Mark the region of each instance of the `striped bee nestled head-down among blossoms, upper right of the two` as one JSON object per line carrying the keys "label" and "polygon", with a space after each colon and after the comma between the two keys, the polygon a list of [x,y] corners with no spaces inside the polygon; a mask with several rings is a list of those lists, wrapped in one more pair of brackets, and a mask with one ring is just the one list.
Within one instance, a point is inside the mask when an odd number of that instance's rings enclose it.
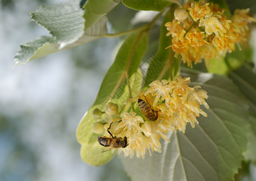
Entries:
{"label": "striped bee nestled head-down among blossoms, upper right of the two", "polygon": [[158,117],[158,112],[151,109],[150,105],[141,99],[138,99],[138,107],[140,112],[149,120],[155,121]]}

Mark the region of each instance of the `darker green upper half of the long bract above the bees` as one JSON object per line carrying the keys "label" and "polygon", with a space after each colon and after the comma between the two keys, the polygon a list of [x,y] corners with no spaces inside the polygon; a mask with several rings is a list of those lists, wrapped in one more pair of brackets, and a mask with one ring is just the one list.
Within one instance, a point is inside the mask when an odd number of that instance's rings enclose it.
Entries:
{"label": "darker green upper half of the long bract above the bees", "polygon": [[[107,71],[101,83],[94,105],[106,103],[115,94],[124,80],[135,73],[147,47],[147,34],[135,33],[127,37],[118,51],[115,62]],[[121,87],[123,88],[123,87]]]}

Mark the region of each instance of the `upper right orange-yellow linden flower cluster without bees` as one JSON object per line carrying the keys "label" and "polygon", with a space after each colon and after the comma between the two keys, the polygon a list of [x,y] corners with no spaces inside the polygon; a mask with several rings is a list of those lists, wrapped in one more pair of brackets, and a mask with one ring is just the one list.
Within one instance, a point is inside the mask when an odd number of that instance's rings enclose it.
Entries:
{"label": "upper right orange-yellow linden flower cluster without bees", "polygon": [[[181,60],[192,67],[192,62],[200,63],[204,59],[206,66],[210,60],[225,56],[235,49],[235,43],[246,41],[249,22],[256,19],[248,16],[246,10],[235,10],[234,16],[227,19],[224,10],[217,4],[204,1],[185,4],[174,12],[175,19],[165,26],[172,35],[172,47],[175,57],[181,55]],[[238,44],[239,47],[239,44]]]}

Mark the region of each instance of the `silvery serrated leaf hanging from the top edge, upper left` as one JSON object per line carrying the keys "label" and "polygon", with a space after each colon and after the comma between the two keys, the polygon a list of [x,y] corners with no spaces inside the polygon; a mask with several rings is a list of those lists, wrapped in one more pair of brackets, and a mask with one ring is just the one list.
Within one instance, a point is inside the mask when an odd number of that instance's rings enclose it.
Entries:
{"label": "silvery serrated leaf hanging from the top edge, upper left", "polygon": [[33,11],[31,19],[50,31],[59,43],[59,49],[76,42],[84,34],[84,11],[79,1],[41,5]]}

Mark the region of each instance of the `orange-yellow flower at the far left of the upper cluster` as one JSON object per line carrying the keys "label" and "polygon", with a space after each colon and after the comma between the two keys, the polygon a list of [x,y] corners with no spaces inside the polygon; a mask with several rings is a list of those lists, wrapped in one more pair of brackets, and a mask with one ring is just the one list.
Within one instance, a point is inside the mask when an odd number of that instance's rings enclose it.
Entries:
{"label": "orange-yellow flower at the far left of the upper cluster", "polygon": [[184,34],[186,33],[186,31],[184,30],[184,28],[180,25],[180,22],[178,22],[177,19],[173,19],[172,22],[167,22],[165,24],[166,29],[169,31],[166,36],[170,36],[170,34],[172,34],[172,37],[174,39],[179,39],[182,40],[184,37]]}

